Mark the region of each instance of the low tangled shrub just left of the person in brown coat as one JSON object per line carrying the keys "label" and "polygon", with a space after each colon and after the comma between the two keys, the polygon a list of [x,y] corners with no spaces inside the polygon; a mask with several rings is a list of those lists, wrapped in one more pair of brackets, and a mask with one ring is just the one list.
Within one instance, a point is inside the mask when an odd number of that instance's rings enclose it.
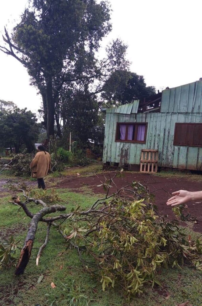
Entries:
{"label": "low tangled shrub just left of the person in brown coat", "polygon": [[19,153],[16,154],[12,159],[11,172],[16,176],[30,176],[31,169],[30,163],[32,161],[31,154]]}

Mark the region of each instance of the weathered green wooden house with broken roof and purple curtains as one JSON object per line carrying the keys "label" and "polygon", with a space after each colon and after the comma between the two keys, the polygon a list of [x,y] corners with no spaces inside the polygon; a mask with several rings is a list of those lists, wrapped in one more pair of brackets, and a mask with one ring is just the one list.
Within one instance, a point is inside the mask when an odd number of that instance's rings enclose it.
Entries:
{"label": "weathered green wooden house with broken roof and purple curtains", "polygon": [[140,170],[147,149],[158,150],[158,167],[202,170],[201,80],[103,111],[104,165]]}

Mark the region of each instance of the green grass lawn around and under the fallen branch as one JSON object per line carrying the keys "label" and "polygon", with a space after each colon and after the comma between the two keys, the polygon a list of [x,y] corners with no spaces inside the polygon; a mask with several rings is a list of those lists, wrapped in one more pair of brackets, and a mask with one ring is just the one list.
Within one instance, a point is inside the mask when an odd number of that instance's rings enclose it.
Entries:
{"label": "green grass lawn around and under the fallen branch", "polygon": [[[75,172],[72,174],[76,175],[77,172],[82,172],[82,175],[90,175],[91,172],[101,171],[100,166],[82,169],[82,171],[74,169]],[[67,189],[57,189],[57,192],[61,197],[60,204],[66,206],[67,211],[71,211],[71,208],[77,205],[86,209],[99,198],[99,195],[94,195],[88,189],[85,189],[83,193],[75,193]],[[13,233],[16,239],[21,239],[20,246],[22,246],[30,218],[26,217],[22,209],[9,203],[11,192],[7,192],[7,194],[8,196],[2,197],[0,200],[0,239]],[[41,208],[34,203],[28,204],[28,207],[33,213]],[[185,233],[190,234],[193,238],[201,237],[191,228],[186,228]],[[24,275],[14,276],[14,267],[0,270],[0,306],[49,306],[52,301],[57,301],[62,295],[63,297],[58,304],[53,304],[53,306],[67,306],[69,305],[67,301],[69,297],[64,292],[63,284],[71,288],[72,294],[75,287],[80,285],[80,290],[89,301],[89,306],[175,306],[187,300],[193,306],[202,305],[202,273],[189,267],[183,267],[182,270],[162,270],[158,279],[162,282],[163,288],[157,287],[155,290],[152,290],[151,287],[145,288],[145,293],[141,297],[131,300],[130,303],[127,303],[118,288],[103,292],[101,283],[94,281],[89,274],[82,272],[77,252],[72,249],[66,250],[63,238],[54,228],[50,230],[49,242],[43,250],[37,267],[37,248],[44,243],[45,237],[46,224],[39,222],[34,243],[35,249],[32,250],[31,260]],[[17,250],[17,258],[19,253],[20,250]],[[40,275],[43,275],[43,279],[38,284],[37,280]],[[72,281],[75,281],[73,285]],[[56,288],[52,289],[51,282],[54,282]],[[168,294],[169,298],[165,299]],[[85,299],[75,305],[86,305]]]}

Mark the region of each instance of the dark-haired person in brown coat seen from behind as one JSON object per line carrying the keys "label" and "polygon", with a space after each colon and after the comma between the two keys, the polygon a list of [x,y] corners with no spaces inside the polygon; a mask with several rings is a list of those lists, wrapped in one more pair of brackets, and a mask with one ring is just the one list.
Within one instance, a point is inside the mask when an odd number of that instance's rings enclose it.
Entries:
{"label": "dark-haired person in brown coat seen from behind", "polygon": [[42,144],[39,145],[37,150],[38,152],[30,164],[32,170],[31,177],[37,178],[38,188],[45,189],[46,186],[43,178],[51,171],[51,158]]}

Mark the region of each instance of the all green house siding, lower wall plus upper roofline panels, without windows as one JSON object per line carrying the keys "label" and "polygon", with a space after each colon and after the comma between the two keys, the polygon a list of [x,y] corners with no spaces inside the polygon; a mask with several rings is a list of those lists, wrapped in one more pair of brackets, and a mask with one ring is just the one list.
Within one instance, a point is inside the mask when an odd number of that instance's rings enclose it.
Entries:
{"label": "all green house siding, lower wall plus upper roofline panels, without windows", "polygon": [[[202,81],[164,90],[159,113],[138,113],[138,106],[106,111],[103,162],[139,165],[141,149],[157,149],[161,167],[202,170],[202,147],[173,145],[175,123],[202,123]],[[117,122],[148,122],[146,144],[115,142]]]}

